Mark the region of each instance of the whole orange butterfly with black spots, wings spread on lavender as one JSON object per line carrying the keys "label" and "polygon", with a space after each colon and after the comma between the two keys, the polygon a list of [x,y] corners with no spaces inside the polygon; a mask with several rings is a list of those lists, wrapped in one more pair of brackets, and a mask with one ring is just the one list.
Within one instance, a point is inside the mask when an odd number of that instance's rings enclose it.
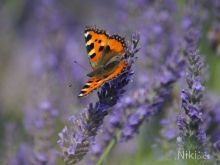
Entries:
{"label": "whole orange butterfly with black spots, wings spread on lavender", "polygon": [[93,71],[87,74],[90,79],[81,89],[78,98],[87,96],[126,69],[126,61],[122,59],[127,48],[125,38],[118,34],[109,35],[106,30],[96,26],[86,26],[85,42]]}

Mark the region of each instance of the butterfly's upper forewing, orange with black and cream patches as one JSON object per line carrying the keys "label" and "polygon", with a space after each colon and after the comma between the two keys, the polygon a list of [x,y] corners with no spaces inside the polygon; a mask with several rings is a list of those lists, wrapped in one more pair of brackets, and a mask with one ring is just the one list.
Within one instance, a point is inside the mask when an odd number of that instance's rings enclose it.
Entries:
{"label": "butterfly's upper forewing, orange with black and cream patches", "polygon": [[103,50],[107,45],[109,34],[106,30],[97,29],[95,26],[85,28],[85,42],[90,64],[93,69],[98,68]]}

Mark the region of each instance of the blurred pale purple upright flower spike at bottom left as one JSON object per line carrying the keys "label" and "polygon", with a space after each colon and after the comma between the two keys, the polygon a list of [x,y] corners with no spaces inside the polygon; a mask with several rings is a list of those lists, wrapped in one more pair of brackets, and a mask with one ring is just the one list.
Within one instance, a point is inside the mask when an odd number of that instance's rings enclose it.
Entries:
{"label": "blurred pale purple upright flower spike at bottom left", "polygon": [[[30,110],[30,109],[29,109]],[[34,138],[33,164],[47,163],[53,164],[56,160],[55,150],[51,148],[51,136],[53,135],[53,125],[55,117],[57,117],[58,112],[51,105],[48,100],[42,101],[38,109],[31,111],[31,116],[27,116],[26,124],[30,124],[29,129],[30,134]],[[33,161],[33,160],[29,160]]]}

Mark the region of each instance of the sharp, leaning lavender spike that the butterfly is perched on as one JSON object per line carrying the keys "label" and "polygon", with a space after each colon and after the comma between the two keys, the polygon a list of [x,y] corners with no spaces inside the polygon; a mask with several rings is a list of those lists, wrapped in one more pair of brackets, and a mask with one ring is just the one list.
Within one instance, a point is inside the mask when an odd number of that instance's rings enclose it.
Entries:
{"label": "sharp, leaning lavender spike that the butterfly is perched on", "polygon": [[[65,127],[59,133],[60,140],[58,144],[61,151],[58,155],[66,164],[75,164],[83,159],[90,146],[95,143],[97,132],[102,128],[103,120],[108,115],[108,108],[114,106],[125,92],[123,88],[131,81],[131,76],[134,74],[130,68],[137,59],[134,57],[134,54],[140,50],[137,47],[139,39],[139,33],[134,32],[132,35],[132,45],[127,43],[127,51],[123,57],[123,60],[127,63],[125,72],[112,81],[106,82],[101,87],[101,91],[98,92],[99,100],[95,106],[90,103],[80,113],[79,119],[77,119],[77,113],[75,113],[69,119],[73,123],[72,128],[68,130]],[[65,143],[68,147],[64,147]]]}

